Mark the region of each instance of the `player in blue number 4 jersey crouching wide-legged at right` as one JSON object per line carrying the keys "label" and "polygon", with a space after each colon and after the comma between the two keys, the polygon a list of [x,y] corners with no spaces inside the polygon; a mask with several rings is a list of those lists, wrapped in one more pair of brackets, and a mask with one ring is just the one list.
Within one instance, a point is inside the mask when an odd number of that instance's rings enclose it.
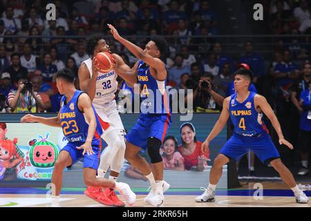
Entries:
{"label": "player in blue number 4 jersey crouching wide-legged at right", "polygon": [[220,133],[229,117],[234,124],[234,133],[214,160],[209,175],[209,186],[195,200],[196,202],[213,202],[215,200],[216,184],[223,173],[223,166],[229,160],[239,160],[245,153],[251,150],[254,151],[261,162],[266,165],[270,163],[274,167],[282,180],[294,192],[296,202],[308,203],[308,197],[299,189],[292,173],[281,162],[279,152],[267,133],[265,124],[261,120],[263,113],[272,122],[279,136],[279,144],[284,144],[290,149],[293,149],[293,146],[283,137],[279,121],[265,97],[249,91],[251,82],[252,72],[250,70],[241,68],[234,73],[234,89],[236,93],[225,98],[223,111],[211,133],[209,133],[207,139],[202,144],[203,150],[209,147],[209,143]]}

